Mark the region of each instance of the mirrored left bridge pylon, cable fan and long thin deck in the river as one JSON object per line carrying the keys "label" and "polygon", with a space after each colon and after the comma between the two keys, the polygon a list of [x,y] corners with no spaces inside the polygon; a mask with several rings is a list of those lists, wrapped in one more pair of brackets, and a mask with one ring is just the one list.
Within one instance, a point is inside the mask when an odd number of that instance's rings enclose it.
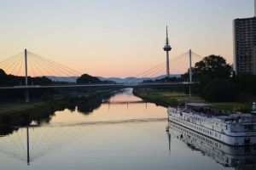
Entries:
{"label": "mirrored left bridge pylon, cable fan and long thin deck in the river", "polygon": [[24,161],[30,165],[32,161],[57,150],[64,144],[79,139],[86,133],[95,133],[94,126],[127,123],[163,122],[166,118],[137,118],[100,122],[55,123],[49,126],[25,126],[14,133],[0,137],[0,153]]}

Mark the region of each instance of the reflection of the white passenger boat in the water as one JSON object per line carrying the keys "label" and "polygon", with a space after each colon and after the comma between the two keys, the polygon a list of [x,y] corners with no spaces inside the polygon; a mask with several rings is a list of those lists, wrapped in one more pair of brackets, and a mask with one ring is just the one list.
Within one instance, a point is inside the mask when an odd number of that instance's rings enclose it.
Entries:
{"label": "reflection of the white passenger boat in the water", "polygon": [[224,167],[256,168],[255,146],[235,147],[223,144],[173,122],[169,122],[169,127],[172,138],[183,141],[191,150],[201,151],[203,156],[211,157]]}

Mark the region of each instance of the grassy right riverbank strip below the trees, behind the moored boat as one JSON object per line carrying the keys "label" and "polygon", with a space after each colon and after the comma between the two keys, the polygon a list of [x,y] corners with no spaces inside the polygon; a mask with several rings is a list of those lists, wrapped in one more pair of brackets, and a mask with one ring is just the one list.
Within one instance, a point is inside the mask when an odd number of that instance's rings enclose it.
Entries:
{"label": "grassy right riverbank strip below the trees, behind the moored boat", "polygon": [[[151,89],[151,88],[135,88],[133,90],[133,94],[137,95],[142,99],[146,99],[148,101],[152,101],[157,105],[163,106],[177,106],[177,105],[184,105],[185,102],[203,102],[209,103],[200,97],[193,96],[189,98],[188,94],[184,94],[182,92],[174,92],[169,91],[166,89]],[[251,98],[244,98],[244,102],[224,102],[224,103],[209,103],[214,105],[218,110],[225,110],[225,111],[242,111],[242,112],[249,112],[252,107],[253,99]]]}

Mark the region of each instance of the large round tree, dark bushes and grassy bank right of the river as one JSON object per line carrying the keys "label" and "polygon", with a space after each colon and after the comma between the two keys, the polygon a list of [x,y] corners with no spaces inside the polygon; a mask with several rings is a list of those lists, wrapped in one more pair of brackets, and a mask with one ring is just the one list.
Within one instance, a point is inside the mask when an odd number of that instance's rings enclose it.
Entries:
{"label": "large round tree, dark bushes and grassy bank right of the river", "polygon": [[[143,99],[150,99],[161,105],[183,105],[184,102],[205,102],[220,110],[251,111],[256,100],[256,76],[252,74],[236,75],[231,65],[217,55],[210,55],[192,68],[193,79],[198,82],[191,86],[193,95],[189,98],[188,87],[172,89],[135,89]],[[177,82],[178,78],[164,78],[158,81]],[[179,81],[189,80],[189,71]],[[183,89],[183,90],[181,90]],[[174,93],[174,92],[178,92]]]}

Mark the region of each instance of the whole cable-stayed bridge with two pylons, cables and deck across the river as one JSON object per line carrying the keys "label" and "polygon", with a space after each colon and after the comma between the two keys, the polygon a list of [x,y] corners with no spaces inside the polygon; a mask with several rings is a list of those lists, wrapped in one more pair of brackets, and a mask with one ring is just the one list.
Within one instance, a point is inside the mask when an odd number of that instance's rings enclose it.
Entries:
{"label": "whole cable-stayed bridge with two pylons, cables and deck across the river", "polygon": [[[0,62],[0,69],[6,72],[6,74],[14,75],[16,77],[25,77],[25,80],[16,84],[15,86],[0,86],[0,90],[4,89],[28,89],[32,88],[135,88],[135,87],[161,87],[172,86],[182,84],[193,84],[193,77],[191,67],[196,62],[201,60],[202,57],[199,54],[195,54],[189,50],[183,54],[178,55],[175,58],[170,59],[168,65],[166,62],[160,65],[155,65],[145,71],[138,73],[135,78],[143,77],[160,77],[165,75],[166,67],[170,68],[172,75],[181,75],[189,71],[189,80],[187,82],[144,82],[134,83],[132,78],[123,83],[101,83],[101,84],[78,84],[73,82],[73,79],[80,77],[81,72],[75,71],[66,65],[61,65],[51,59],[44,56],[32,53],[25,49],[24,52],[15,54],[9,59],[5,59]],[[168,76],[170,76],[168,72]],[[50,84],[35,84],[30,79],[31,77],[48,77],[53,82]],[[61,80],[60,80],[61,77]],[[67,83],[60,83],[67,82]]]}

